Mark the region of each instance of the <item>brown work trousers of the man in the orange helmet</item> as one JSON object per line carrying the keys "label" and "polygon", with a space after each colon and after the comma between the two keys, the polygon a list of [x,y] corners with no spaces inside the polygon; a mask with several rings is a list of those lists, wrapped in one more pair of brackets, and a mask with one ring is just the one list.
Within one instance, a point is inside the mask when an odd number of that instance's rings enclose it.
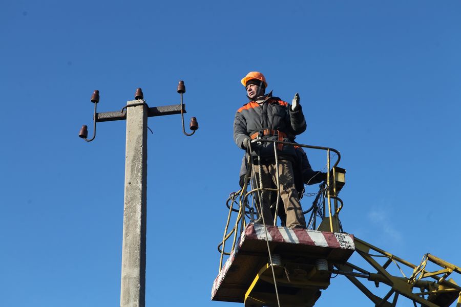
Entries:
{"label": "brown work trousers of the man in the orange helmet", "polygon": [[[279,188],[280,198],[282,199],[283,206],[286,213],[286,226],[287,227],[306,227],[306,220],[304,219],[303,209],[298,199],[298,191],[295,188],[295,177],[293,172],[293,166],[291,161],[279,160]],[[277,171],[275,162],[261,163],[261,165],[253,165],[255,171],[256,186],[260,187],[262,181],[262,188],[275,188],[277,187]],[[259,178],[259,172],[261,171],[261,181]],[[274,225],[274,217],[270,212],[270,194],[274,193],[271,191],[260,191],[261,195],[261,206],[264,217],[264,223],[266,225]],[[277,196],[275,198],[277,200]],[[273,202],[275,206],[276,203]],[[279,207],[282,204],[279,203]],[[260,209],[260,202],[256,205],[258,212]],[[260,223],[263,221],[260,220]]]}

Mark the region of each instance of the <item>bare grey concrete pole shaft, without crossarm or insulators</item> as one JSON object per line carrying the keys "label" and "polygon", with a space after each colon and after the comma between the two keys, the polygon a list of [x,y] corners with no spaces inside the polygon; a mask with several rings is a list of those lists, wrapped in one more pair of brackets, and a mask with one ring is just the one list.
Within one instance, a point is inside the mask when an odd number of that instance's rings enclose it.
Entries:
{"label": "bare grey concrete pole shaft, without crossarm or insulators", "polygon": [[120,306],[145,305],[147,107],[127,103]]}

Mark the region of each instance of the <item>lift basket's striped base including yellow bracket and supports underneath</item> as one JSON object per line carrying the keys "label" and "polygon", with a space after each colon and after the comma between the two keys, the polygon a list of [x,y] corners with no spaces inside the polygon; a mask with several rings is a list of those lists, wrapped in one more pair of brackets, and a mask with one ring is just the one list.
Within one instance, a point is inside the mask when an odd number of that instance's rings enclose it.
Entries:
{"label": "lift basket's striped base including yellow bracket and supports underneath", "polygon": [[[263,306],[277,301],[275,279],[284,306],[313,306],[330,284],[328,263],[345,264],[354,252],[350,234],[250,223],[213,283],[212,299]],[[268,243],[273,266],[268,259]]]}

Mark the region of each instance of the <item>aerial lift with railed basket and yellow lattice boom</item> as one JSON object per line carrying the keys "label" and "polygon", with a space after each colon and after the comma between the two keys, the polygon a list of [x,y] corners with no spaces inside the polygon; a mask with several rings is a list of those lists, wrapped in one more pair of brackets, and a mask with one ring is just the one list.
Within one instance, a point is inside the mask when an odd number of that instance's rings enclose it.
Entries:
{"label": "aerial lift with railed basket and yellow lattice boom", "polygon": [[[244,187],[231,193],[226,202],[229,214],[223,240],[218,245],[221,258],[219,274],[213,282],[212,300],[244,303],[247,307],[310,307],[320,298],[321,291],[328,288],[332,274],[340,274],[362,291],[374,306],[395,307],[400,297],[406,297],[414,306],[449,307],[457,300],[456,307],[461,307],[461,287],[449,278],[452,273],[461,274],[460,267],[431,254],[424,255],[420,265],[413,265],[343,231],[339,219],[343,201],[338,193],[345,185],[346,170],[338,167],[339,151],[275,141],[276,161],[276,143],[326,150],[327,180],[320,185],[312,206],[303,212],[311,212],[307,229],[275,226],[276,220],[273,225],[255,223],[258,211],[255,195],[261,190],[280,193],[277,189],[256,184],[248,192]],[[331,168],[330,152],[337,156]],[[249,170],[248,177],[252,176],[250,173]],[[279,212],[278,202],[275,207],[275,212]],[[237,218],[231,227],[233,212],[237,212]],[[249,219],[248,224],[245,217]],[[225,244],[232,237],[231,250],[226,252]],[[348,262],[354,252],[365,259],[372,270]],[[223,265],[225,255],[228,258]],[[392,264],[403,276],[391,272]],[[405,275],[402,268],[411,273]],[[390,289],[385,295],[375,294],[359,278],[371,281],[372,288],[384,285]]]}

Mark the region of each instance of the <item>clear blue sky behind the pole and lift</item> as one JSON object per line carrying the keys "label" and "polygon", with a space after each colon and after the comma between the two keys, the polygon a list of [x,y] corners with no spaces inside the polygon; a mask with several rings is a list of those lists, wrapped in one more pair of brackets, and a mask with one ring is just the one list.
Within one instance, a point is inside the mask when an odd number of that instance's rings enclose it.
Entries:
{"label": "clear blue sky behind the pole and lift", "polygon": [[[210,293],[238,189],[240,79],[255,70],[274,95],[300,93],[300,143],[341,151],[345,231],[413,263],[430,252],[461,265],[460,2],[1,7],[0,305],[119,304],[125,123],[98,124],[91,143],[78,130],[93,90],[100,112],[137,87],[150,106],[177,104],[180,79],[200,129],[186,138],[179,115],[149,119],[146,305],[236,305]],[[339,276],[316,306],[338,304],[371,302]]]}

